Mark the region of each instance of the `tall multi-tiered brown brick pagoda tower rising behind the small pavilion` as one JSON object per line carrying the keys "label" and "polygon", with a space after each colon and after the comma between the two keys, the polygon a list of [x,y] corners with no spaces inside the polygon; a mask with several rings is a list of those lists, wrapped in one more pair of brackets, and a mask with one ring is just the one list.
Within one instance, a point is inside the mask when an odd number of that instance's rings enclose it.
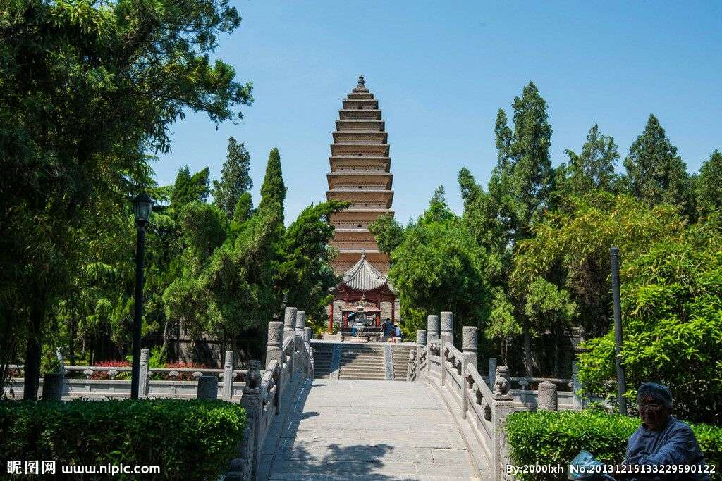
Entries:
{"label": "tall multi-tiered brown brick pagoda tower rising behind the small pavilion", "polygon": [[331,144],[326,198],[348,200],[351,205],[330,219],[335,228],[331,245],[339,250],[333,260],[334,273],[347,272],[362,252],[374,268],[386,273],[388,255],[378,250],[368,225],[378,216],[393,216],[388,133],[378,100],[366,88],[363,76],[342,102]]}

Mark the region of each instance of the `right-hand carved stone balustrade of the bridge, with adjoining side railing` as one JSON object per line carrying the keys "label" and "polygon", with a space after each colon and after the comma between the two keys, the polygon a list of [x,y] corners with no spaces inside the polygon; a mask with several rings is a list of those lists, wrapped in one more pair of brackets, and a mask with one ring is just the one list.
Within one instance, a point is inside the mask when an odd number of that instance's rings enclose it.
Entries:
{"label": "right-hand carved stone balustrade of the bridge, with adjoining side railing", "polygon": [[[576,394],[580,388],[576,366],[573,379],[511,377],[508,366],[497,366],[496,358],[491,358],[482,376],[477,365],[478,336],[477,327],[464,326],[459,350],[453,340],[453,314],[429,315],[427,330],[417,332],[407,379],[438,390],[469,442],[480,475],[491,467],[493,479],[503,480],[510,463],[504,431],[508,415],[521,410],[579,409],[583,401]],[[513,389],[516,386],[521,389]],[[482,477],[489,475],[487,471]]]}

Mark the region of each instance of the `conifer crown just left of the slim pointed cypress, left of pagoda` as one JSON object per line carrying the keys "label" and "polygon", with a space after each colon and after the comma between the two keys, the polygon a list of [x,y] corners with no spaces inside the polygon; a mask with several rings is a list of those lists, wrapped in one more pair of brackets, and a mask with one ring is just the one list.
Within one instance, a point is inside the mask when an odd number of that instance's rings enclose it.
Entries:
{"label": "conifer crown just left of the slim pointed cypress, left of pagoda", "polygon": [[245,150],[245,145],[238,144],[235,138],[228,138],[228,154],[221,169],[221,179],[213,181],[214,201],[228,219],[233,219],[240,196],[253,187],[253,180],[248,175],[250,168],[251,155]]}

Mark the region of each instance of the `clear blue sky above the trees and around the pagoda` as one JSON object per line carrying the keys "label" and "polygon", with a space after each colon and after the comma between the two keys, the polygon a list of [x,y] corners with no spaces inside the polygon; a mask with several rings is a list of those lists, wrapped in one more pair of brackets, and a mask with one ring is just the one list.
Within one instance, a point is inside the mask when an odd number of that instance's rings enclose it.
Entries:
{"label": "clear blue sky above the trees and around the pagoda", "polygon": [[[357,76],[379,99],[391,144],[393,208],[405,222],[456,176],[486,185],[496,112],[534,81],[549,106],[552,162],[578,151],[593,123],[622,159],[650,113],[690,172],[722,149],[722,2],[236,1],[243,22],[217,56],[255,102],[239,125],[192,112],[154,165],[161,185],[188,164],[219,177],[227,138],[251,153],[253,200],[278,146],[286,221],[325,200],[331,131]],[[621,161],[619,165],[621,169]]]}

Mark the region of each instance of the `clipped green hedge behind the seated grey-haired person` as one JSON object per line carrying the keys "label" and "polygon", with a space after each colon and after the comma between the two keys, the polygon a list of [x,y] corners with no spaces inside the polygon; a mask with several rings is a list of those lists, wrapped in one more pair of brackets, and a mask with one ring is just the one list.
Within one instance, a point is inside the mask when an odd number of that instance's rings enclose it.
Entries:
{"label": "clipped green hedge behind the seated grey-haired person", "polygon": [[[580,450],[596,459],[617,464],[625,459],[627,439],[639,427],[638,418],[601,410],[515,412],[507,418],[506,432],[514,465],[562,464],[567,466]],[[722,428],[692,425],[705,459],[722,461]],[[719,479],[719,475],[716,475]],[[558,475],[557,475],[558,477]],[[521,479],[545,479],[541,475]]]}

